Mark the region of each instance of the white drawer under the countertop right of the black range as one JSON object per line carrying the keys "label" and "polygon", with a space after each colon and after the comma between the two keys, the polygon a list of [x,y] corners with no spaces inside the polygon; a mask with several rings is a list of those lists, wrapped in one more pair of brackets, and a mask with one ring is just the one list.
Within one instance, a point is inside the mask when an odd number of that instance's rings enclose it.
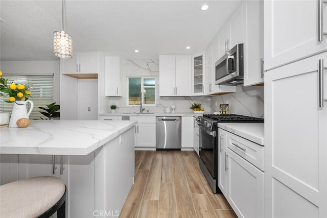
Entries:
{"label": "white drawer under the countertop right of the black range", "polygon": [[227,148],[264,171],[264,147],[232,133],[227,134]]}

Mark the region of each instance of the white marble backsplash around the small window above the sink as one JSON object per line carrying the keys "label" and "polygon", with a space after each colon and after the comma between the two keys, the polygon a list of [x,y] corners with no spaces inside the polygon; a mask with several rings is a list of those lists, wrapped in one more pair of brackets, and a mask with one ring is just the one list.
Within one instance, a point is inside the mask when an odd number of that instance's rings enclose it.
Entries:
{"label": "white marble backsplash around the small window above the sink", "polygon": [[[191,72],[190,72],[191,74]],[[166,107],[171,104],[176,106],[177,113],[192,112],[192,102],[202,103],[205,112],[211,112],[211,98],[210,97],[159,97],[159,61],[153,59],[124,59],[121,57],[121,76],[123,83],[123,97],[100,97],[102,104],[99,106],[99,113],[108,113],[109,106],[118,104],[117,112],[139,112],[139,106],[127,106],[127,77],[128,76],[155,76],[156,77],[156,106],[144,106],[145,111],[150,112],[165,112]],[[102,78],[99,75],[99,83]],[[99,88],[102,84],[99,84]],[[99,93],[104,93],[104,86],[99,90]]]}

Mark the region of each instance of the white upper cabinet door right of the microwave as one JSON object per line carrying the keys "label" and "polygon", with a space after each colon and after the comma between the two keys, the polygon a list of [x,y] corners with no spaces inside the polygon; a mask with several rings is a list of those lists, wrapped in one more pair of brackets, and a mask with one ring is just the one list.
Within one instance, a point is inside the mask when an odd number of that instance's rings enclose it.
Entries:
{"label": "white upper cabinet door right of the microwave", "polygon": [[244,3],[244,86],[263,83],[264,57],[263,1]]}

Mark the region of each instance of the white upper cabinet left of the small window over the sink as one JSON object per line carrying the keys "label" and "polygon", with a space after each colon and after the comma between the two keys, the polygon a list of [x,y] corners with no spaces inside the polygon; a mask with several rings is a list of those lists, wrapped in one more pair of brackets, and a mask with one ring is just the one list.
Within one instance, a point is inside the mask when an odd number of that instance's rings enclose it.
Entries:
{"label": "white upper cabinet left of the small window over the sink", "polygon": [[123,96],[119,56],[105,57],[105,96]]}

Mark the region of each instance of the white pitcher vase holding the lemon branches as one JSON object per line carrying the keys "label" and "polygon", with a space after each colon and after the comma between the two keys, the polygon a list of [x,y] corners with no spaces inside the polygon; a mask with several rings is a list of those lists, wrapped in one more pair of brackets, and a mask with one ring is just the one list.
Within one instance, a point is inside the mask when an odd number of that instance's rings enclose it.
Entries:
{"label": "white pitcher vase holding the lemon branches", "polygon": [[[31,104],[31,108],[29,110],[29,112],[27,112],[27,107],[26,104],[27,103]],[[27,101],[15,101],[14,102],[14,107],[12,108],[12,112],[11,112],[11,117],[10,117],[10,121],[9,121],[9,127],[17,127],[17,120],[20,118],[29,118],[32,110],[33,110],[33,102],[30,100]]]}

